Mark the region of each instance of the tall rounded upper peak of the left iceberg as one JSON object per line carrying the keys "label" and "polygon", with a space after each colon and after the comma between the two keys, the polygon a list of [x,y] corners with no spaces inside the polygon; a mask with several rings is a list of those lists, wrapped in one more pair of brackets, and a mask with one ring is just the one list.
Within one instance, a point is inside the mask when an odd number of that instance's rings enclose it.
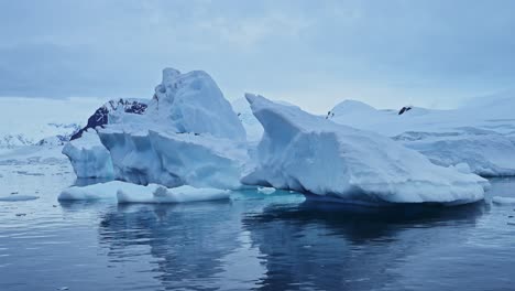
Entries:
{"label": "tall rounded upper peak of the left iceberg", "polygon": [[202,71],[163,71],[147,116],[176,132],[244,141],[245,130],[215,80]]}

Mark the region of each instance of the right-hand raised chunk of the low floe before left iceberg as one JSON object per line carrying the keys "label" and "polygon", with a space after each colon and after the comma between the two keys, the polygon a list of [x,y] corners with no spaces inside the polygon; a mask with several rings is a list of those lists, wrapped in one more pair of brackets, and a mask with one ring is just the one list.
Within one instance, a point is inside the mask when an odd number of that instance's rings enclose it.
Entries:
{"label": "right-hand raised chunk of the low floe before left iceberg", "polygon": [[155,186],[154,190],[140,188],[139,192],[118,191],[118,203],[184,203],[229,198],[230,191],[219,188],[196,188],[188,185],[167,188]]}

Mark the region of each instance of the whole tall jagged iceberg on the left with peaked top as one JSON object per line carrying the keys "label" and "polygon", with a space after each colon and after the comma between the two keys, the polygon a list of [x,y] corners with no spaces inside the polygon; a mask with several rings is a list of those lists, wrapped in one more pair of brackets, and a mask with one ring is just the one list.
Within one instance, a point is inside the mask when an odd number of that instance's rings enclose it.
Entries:
{"label": "whole tall jagged iceberg on the left with peaked top", "polygon": [[64,150],[79,177],[109,176],[168,187],[241,186],[246,133],[205,72],[165,68],[151,100],[108,103],[88,126],[99,138],[89,129]]}

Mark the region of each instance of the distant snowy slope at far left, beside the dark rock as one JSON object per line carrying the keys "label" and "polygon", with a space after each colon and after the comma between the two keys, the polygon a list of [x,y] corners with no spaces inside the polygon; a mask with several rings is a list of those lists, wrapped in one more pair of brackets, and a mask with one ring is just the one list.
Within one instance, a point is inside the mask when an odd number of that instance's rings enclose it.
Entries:
{"label": "distant snowy slope at far left, beside the dark rock", "polygon": [[101,103],[97,98],[1,97],[0,149],[62,144]]}

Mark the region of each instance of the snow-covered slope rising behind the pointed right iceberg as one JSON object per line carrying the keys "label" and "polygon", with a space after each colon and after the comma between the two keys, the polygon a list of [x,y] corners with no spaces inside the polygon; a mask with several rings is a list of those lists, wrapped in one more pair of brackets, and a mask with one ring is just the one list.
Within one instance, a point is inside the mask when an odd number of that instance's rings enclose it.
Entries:
{"label": "snow-covered slope rising behind the pointed right iceberg", "polygon": [[490,98],[456,110],[376,110],[359,101],[337,105],[329,119],[388,136],[434,163],[468,163],[484,176],[515,175],[515,98]]}

